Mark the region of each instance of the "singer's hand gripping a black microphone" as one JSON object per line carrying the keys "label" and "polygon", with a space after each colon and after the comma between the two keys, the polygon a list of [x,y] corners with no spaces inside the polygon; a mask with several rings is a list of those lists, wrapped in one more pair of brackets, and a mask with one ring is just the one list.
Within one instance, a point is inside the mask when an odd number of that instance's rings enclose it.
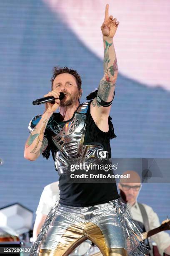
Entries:
{"label": "singer's hand gripping a black microphone", "polygon": [[60,106],[60,100],[64,99],[63,92],[51,91],[44,95],[44,98],[37,99],[32,102],[33,105],[40,105],[45,103],[45,111],[53,113]]}

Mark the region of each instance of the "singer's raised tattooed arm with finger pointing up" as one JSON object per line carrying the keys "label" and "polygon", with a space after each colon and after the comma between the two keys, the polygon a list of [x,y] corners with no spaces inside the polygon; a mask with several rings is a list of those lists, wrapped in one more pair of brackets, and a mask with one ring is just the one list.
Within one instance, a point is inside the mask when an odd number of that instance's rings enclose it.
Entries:
{"label": "singer's raised tattooed arm with finger pointing up", "polygon": [[113,37],[116,33],[119,21],[109,16],[109,5],[105,8],[105,20],[101,26],[104,43],[104,76],[98,87],[98,95],[92,101],[92,107],[95,108],[96,115],[106,115],[110,113],[111,103],[114,96],[115,83],[117,80],[117,60]]}

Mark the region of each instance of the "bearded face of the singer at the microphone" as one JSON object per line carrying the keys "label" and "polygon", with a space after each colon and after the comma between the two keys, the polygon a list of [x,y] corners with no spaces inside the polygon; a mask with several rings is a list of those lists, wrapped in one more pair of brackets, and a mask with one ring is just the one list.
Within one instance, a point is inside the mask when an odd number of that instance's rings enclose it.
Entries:
{"label": "bearded face of the singer at the microphone", "polygon": [[53,81],[53,90],[65,94],[65,98],[60,102],[61,107],[74,105],[81,95],[81,90],[78,90],[75,77],[68,73],[59,74],[55,77]]}

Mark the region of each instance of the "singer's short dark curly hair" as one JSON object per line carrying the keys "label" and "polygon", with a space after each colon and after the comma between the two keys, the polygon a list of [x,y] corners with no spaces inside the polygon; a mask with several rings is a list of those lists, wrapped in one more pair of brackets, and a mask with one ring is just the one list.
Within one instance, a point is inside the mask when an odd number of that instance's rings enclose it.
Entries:
{"label": "singer's short dark curly hair", "polygon": [[75,77],[75,79],[77,81],[78,90],[80,91],[81,90],[81,84],[82,84],[80,75],[77,73],[77,70],[68,69],[67,67],[64,67],[64,68],[54,67],[53,68],[53,75],[52,75],[52,78],[51,78],[51,89],[53,90],[53,82],[54,82],[55,77],[57,77],[57,75],[63,74],[63,73],[72,74]]}

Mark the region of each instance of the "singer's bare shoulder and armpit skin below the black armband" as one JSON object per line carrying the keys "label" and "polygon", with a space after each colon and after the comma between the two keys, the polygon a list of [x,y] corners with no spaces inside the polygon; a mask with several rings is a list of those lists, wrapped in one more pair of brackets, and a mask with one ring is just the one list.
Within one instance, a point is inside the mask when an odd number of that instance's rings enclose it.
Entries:
{"label": "singer's bare shoulder and armpit skin below the black armband", "polygon": [[90,114],[97,127],[101,131],[107,133],[107,131],[109,131],[108,114],[97,111],[97,106],[94,103],[95,100],[96,98],[90,103]]}

